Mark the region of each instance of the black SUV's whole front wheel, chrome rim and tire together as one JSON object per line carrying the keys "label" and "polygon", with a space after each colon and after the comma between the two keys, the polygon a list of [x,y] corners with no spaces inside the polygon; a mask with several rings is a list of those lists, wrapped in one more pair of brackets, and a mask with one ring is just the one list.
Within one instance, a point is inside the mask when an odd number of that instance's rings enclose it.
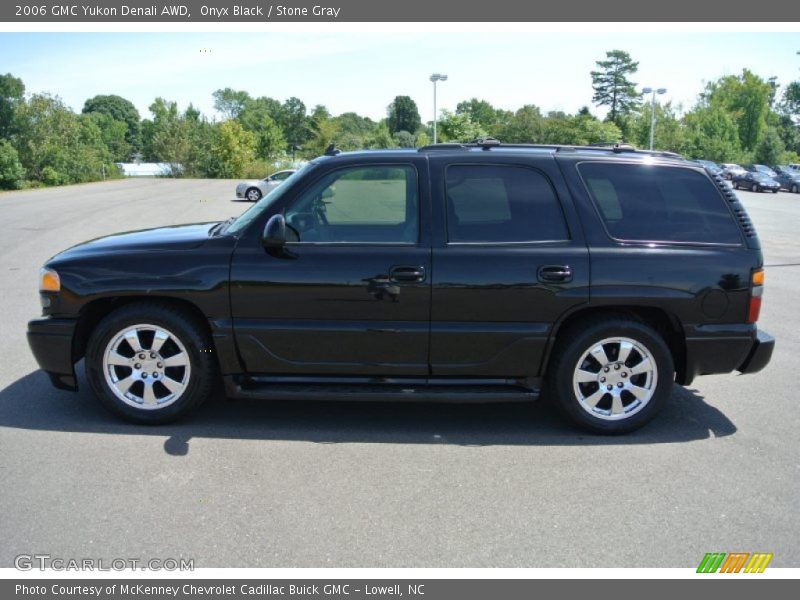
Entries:
{"label": "black SUV's whole front wheel, chrome rim and tire together", "polygon": [[100,402],[124,419],[168,423],[211,395],[218,372],[211,350],[197,319],[165,304],[129,304],[92,333],[86,377]]}

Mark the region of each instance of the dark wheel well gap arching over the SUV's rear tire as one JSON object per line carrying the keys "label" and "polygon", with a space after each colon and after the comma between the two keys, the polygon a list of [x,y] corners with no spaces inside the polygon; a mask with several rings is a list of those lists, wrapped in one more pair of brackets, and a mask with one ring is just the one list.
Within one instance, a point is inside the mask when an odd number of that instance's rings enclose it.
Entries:
{"label": "dark wheel well gap arching over the SUV's rear tire", "polygon": [[[552,354],[553,347],[558,343],[558,335],[573,327],[578,327],[587,319],[598,317],[624,317],[635,319],[650,325],[655,329],[667,344],[672,353],[677,372],[676,381],[683,383],[686,376],[686,339],[678,318],[661,308],[650,306],[602,306],[580,309],[568,315],[563,321],[557,323],[550,337],[551,344],[542,365],[542,373],[547,372],[547,363]],[[688,382],[687,382],[688,383]]]}

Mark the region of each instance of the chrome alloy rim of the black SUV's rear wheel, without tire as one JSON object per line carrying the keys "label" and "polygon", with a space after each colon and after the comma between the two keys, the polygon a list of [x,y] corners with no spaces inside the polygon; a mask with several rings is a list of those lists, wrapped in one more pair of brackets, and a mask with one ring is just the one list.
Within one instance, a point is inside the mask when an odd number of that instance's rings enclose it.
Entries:
{"label": "chrome alloy rim of the black SUV's rear wheel, without tire", "polygon": [[657,383],[658,368],[651,352],[624,337],[594,344],[578,360],[572,375],[581,408],[608,421],[627,419],[642,410]]}

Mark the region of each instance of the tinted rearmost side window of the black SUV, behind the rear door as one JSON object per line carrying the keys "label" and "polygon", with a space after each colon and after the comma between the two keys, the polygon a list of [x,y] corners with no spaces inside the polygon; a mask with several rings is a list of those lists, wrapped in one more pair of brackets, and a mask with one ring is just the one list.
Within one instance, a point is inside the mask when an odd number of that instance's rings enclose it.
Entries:
{"label": "tinted rearmost side window of the black SUV, behind the rear door", "polygon": [[725,200],[701,173],[611,163],[584,163],[578,170],[615,239],[742,243]]}

